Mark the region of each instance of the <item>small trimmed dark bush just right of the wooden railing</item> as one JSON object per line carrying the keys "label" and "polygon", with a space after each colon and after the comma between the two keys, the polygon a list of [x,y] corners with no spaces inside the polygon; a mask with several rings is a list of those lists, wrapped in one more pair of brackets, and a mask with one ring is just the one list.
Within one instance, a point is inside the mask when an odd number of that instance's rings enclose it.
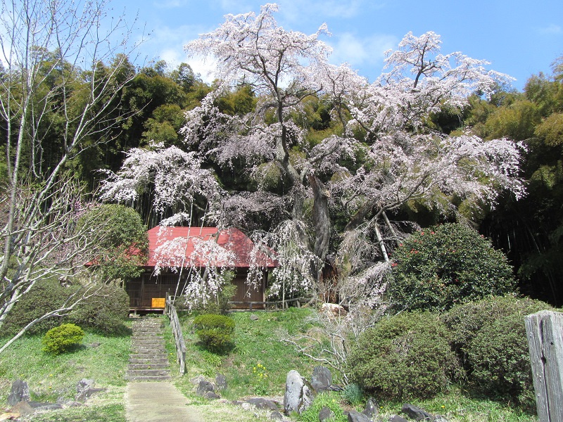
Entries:
{"label": "small trimmed dark bush just right of the wooden railing", "polygon": [[194,319],[196,335],[210,352],[222,352],[232,345],[234,321],[228,316],[204,314]]}

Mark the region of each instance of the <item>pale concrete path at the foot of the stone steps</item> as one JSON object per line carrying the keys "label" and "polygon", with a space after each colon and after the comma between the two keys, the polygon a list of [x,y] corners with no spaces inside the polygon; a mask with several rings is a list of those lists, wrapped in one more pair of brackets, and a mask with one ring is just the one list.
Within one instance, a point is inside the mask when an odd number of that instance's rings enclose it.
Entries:
{"label": "pale concrete path at the foot of the stone steps", "polygon": [[167,382],[128,383],[127,422],[203,422],[179,390]]}

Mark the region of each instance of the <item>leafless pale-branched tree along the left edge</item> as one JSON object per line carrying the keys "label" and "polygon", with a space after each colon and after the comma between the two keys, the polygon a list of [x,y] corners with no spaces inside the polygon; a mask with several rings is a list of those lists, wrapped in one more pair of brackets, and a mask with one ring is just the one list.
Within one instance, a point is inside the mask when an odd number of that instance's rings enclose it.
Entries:
{"label": "leafless pale-branched tree along the left edge", "polygon": [[128,39],[132,28],[109,19],[107,6],[106,0],[1,0],[0,328],[36,283],[80,273],[95,256],[96,236],[103,236],[103,222],[76,224],[82,189],[70,164],[117,136],[127,117],[118,100],[134,77],[128,58],[136,46]]}

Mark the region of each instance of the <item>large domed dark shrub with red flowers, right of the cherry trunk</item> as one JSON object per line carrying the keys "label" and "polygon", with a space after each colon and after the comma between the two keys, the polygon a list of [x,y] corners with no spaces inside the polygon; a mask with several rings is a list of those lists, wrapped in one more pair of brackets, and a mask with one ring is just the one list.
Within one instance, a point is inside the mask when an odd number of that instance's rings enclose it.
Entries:
{"label": "large domed dark shrub with red flowers, right of the cherry trunk", "polygon": [[394,252],[388,299],[398,309],[444,311],[516,289],[512,267],[491,241],[462,224],[412,234]]}

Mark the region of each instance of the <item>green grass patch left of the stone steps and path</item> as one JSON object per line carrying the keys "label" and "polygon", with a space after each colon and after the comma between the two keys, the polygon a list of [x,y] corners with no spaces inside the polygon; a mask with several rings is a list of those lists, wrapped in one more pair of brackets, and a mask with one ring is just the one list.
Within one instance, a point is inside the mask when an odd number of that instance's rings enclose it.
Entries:
{"label": "green grass patch left of the stone steps and path", "polygon": [[125,421],[123,392],[130,350],[130,335],[106,336],[86,331],[82,345],[53,355],[43,352],[42,335],[24,336],[0,355],[0,402],[6,403],[16,379],[27,382],[31,399],[57,402],[74,399],[82,378],[106,388],[87,406],[34,415],[32,421]]}

